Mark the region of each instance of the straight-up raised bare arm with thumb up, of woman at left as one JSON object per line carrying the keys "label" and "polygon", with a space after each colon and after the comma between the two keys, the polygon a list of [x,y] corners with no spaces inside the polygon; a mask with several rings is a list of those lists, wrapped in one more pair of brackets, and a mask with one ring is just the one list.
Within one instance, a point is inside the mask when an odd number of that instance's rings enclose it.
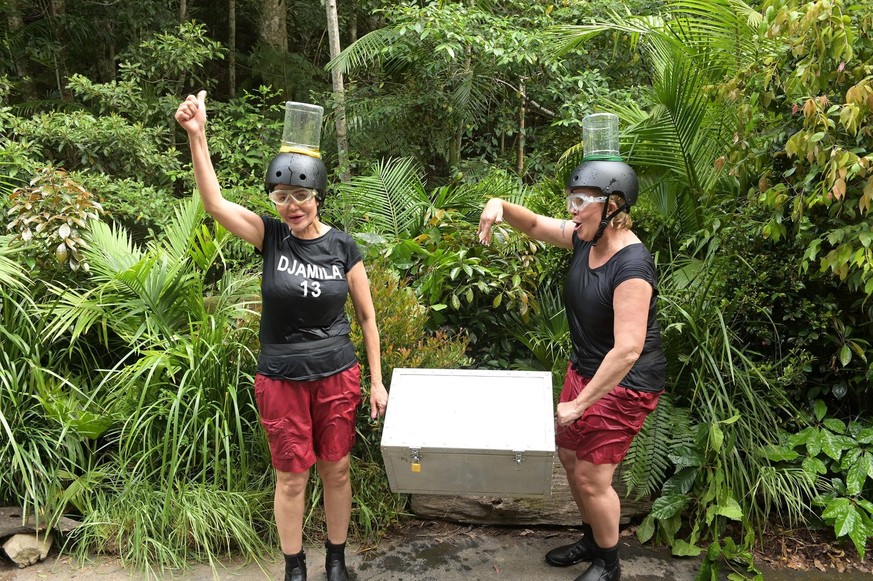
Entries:
{"label": "straight-up raised bare arm with thumb up, of woman at left", "polygon": [[218,177],[206,143],[206,91],[188,95],[176,110],[176,121],[188,133],[194,181],[203,208],[229,232],[260,250],[264,244],[264,222],[260,216],[221,195]]}

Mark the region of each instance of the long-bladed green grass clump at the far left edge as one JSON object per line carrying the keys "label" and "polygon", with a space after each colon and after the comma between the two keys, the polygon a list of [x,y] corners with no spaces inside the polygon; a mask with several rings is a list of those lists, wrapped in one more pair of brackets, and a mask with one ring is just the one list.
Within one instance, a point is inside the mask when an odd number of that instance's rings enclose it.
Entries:
{"label": "long-bladed green grass clump at the far left edge", "polygon": [[64,377],[76,350],[46,342],[35,289],[16,258],[22,249],[0,237],[0,502],[52,526],[66,508],[71,475],[88,469],[102,410]]}

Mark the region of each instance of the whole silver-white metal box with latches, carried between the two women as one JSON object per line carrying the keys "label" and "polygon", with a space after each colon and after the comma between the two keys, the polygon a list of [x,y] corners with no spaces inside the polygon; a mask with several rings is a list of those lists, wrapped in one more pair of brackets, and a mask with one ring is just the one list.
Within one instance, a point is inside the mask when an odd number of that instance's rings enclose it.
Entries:
{"label": "whole silver-white metal box with latches, carried between the two women", "polygon": [[550,496],[552,377],[395,369],[382,431],[394,492]]}

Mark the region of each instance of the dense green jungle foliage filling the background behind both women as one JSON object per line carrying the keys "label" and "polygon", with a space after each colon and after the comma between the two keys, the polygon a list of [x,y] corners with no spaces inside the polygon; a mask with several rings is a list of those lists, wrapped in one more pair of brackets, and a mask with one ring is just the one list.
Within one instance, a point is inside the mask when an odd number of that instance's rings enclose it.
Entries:
{"label": "dense green jungle foliage filling the background behind both women", "polygon": [[[257,29],[261,3],[237,4]],[[155,575],[269,550],[259,265],[192,197],[172,113],[209,90],[224,195],[269,213],[283,101],[325,105],[333,163],[341,70],[351,177],[323,218],[366,250],[386,379],[476,366],[560,387],[567,253],[509,228],[479,245],[478,216],[492,196],[560,216],[582,117],[614,112],[669,361],[623,472],[654,501],[638,535],[703,554],[702,579],[758,576],[751,549],[777,524],[865,554],[869,0],[358,2],[330,62],[321,6],[288,7],[280,50],[245,31],[229,46],[234,20],[207,2],[0,6],[0,502],[75,514],[75,550]],[[379,426],[362,413],[358,432],[353,528],[373,541],[405,498]],[[313,536],[319,494],[314,479]]]}

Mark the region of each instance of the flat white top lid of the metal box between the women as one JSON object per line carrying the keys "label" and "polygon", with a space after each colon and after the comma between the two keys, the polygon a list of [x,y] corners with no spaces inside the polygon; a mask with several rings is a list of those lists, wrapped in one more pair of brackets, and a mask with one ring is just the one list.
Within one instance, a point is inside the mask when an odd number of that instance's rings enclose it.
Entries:
{"label": "flat white top lid of the metal box between the women", "polygon": [[394,369],[382,447],[555,451],[545,371]]}

